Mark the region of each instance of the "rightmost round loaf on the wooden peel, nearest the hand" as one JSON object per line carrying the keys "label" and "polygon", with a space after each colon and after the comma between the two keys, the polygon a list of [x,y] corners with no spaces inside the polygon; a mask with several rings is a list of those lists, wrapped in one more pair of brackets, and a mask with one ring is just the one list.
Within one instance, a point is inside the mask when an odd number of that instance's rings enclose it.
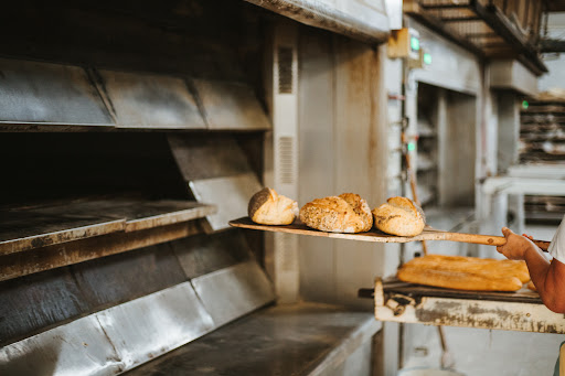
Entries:
{"label": "rightmost round loaf on the wooden peel, nearest the hand", "polygon": [[426,226],[422,208],[406,197],[391,197],[372,213],[375,227],[386,234],[416,236]]}

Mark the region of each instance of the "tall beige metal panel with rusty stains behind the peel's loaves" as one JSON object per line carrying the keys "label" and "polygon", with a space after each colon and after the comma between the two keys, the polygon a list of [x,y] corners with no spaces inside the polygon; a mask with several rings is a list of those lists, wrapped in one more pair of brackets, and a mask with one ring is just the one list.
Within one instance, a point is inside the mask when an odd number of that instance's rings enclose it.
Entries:
{"label": "tall beige metal panel with rusty stains behind the peel's loaves", "polygon": [[[299,204],[354,192],[386,198],[386,109],[381,50],[326,32],[299,36]],[[382,275],[383,246],[300,237],[300,294],[351,307]]]}

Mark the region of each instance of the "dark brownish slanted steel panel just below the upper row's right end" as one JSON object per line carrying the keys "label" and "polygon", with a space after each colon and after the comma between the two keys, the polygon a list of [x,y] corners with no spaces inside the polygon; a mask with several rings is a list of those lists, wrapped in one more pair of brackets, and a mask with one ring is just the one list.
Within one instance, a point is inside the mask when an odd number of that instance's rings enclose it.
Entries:
{"label": "dark brownish slanted steel panel just below the upper row's right end", "polygon": [[169,144],[185,181],[231,176],[252,171],[233,136],[169,135]]}

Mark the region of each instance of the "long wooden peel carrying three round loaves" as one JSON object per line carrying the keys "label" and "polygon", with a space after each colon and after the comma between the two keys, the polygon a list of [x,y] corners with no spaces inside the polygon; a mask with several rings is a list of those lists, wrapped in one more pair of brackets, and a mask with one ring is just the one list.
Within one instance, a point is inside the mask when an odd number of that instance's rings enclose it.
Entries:
{"label": "long wooden peel carrying three round loaves", "polygon": [[[449,233],[440,229],[435,229],[427,226],[424,232],[417,236],[396,236],[385,234],[375,228],[372,228],[366,233],[359,234],[342,234],[342,233],[324,233],[318,229],[307,227],[303,224],[292,224],[288,226],[269,226],[258,225],[254,223],[249,217],[243,217],[239,219],[231,221],[231,226],[248,229],[260,229],[264,232],[274,233],[288,233],[298,235],[309,235],[319,237],[329,237],[335,239],[350,239],[360,241],[373,241],[373,243],[409,243],[409,241],[423,241],[423,240],[448,240],[459,243],[472,243],[483,244],[487,246],[503,246],[507,244],[507,238],[503,236],[494,235],[480,235],[480,234],[465,234],[465,233]],[[550,241],[532,240],[542,250],[547,251]]]}

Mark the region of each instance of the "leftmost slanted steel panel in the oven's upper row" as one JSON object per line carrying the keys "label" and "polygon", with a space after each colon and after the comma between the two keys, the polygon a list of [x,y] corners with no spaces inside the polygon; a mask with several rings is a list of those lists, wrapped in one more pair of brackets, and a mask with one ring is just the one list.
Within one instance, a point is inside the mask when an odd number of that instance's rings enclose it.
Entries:
{"label": "leftmost slanted steel panel in the oven's upper row", "polygon": [[0,58],[0,122],[113,126],[77,66]]}

